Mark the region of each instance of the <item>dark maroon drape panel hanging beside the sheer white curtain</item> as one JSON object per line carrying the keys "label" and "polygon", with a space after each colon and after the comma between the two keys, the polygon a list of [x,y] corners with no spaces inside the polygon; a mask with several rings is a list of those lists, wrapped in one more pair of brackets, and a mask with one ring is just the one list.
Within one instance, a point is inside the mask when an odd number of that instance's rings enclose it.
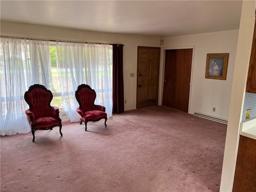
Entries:
{"label": "dark maroon drape panel hanging beside the sheer white curtain", "polygon": [[123,46],[113,44],[113,108],[112,114],[124,112]]}

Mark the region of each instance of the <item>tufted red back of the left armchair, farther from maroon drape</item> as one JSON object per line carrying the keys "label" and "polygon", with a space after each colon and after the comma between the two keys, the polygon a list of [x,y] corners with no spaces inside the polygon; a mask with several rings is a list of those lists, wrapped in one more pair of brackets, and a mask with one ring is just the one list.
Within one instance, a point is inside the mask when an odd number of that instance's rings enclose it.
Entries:
{"label": "tufted red back of the left armchair, farther from maroon drape", "polygon": [[30,111],[33,112],[34,118],[49,115],[52,109],[50,106],[52,98],[52,92],[40,84],[30,86],[24,94],[24,99],[28,103]]}

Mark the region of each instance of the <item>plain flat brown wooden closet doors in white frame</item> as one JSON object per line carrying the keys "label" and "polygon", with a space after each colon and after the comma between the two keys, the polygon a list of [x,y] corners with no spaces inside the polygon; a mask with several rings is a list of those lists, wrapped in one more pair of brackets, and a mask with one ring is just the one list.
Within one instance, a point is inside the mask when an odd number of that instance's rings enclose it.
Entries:
{"label": "plain flat brown wooden closet doors in white frame", "polygon": [[188,112],[193,49],[166,50],[162,105]]}

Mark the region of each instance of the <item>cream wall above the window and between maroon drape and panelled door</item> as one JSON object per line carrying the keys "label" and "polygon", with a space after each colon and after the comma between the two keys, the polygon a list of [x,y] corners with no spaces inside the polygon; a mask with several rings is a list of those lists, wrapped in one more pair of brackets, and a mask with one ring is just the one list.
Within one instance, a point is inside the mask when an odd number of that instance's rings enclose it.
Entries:
{"label": "cream wall above the window and between maroon drape and panelled door", "polygon": [[[160,38],[91,32],[1,21],[1,35],[49,40],[124,44],[124,110],[136,109],[137,47],[160,47]],[[130,77],[134,73],[134,77]]]}

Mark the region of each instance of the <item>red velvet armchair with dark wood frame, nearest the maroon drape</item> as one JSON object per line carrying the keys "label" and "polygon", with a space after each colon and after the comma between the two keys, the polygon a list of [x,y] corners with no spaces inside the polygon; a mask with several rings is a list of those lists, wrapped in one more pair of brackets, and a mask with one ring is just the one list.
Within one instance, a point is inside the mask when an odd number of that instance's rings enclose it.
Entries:
{"label": "red velvet armchair with dark wood frame, nearest the maroon drape", "polygon": [[76,100],[78,101],[79,107],[76,112],[80,118],[80,124],[85,123],[85,131],[87,130],[87,123],[89,121],[99,121],[105,119],[105,126],[107,126],[107,114],[105,113],[106,108],[101,105],[95,105],[96,92],[89,85],[81,84],[78,86],[76,93]]}

